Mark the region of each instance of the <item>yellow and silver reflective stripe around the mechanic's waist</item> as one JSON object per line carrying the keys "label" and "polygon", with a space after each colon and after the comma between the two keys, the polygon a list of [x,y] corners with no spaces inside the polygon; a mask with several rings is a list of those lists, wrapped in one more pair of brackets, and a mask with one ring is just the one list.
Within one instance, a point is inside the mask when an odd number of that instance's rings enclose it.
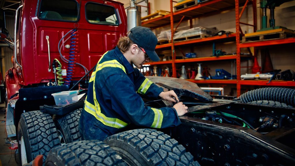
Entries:
{"label": "yellow and silver reflective stripe around the mechanic's waist", "polygon": [[92,105],[90,102],[88,102],[87,100],[85,100],[84,109],[85,111],[93,115],[97,120],[99,120],[101,123],[103,123],[106,126],[123,128],[128,125],[128,123],[125,123],[118,118],[106,117],[103,113],[100,112],[100,107],[99,107],[99,110],[96,110],[96,107]]}

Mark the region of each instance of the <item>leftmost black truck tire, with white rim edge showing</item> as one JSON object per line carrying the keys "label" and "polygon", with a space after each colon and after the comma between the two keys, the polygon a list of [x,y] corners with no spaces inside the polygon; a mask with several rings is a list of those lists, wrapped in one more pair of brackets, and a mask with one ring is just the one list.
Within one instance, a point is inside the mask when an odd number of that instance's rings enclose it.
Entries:
{"label": "leftmost black truck tire, with white rim edge showing", "polygon": [[17,128],[20,165],[43,155],[43,165],[50,149],[60,146],[51,116],[41,111],[22,113]]}

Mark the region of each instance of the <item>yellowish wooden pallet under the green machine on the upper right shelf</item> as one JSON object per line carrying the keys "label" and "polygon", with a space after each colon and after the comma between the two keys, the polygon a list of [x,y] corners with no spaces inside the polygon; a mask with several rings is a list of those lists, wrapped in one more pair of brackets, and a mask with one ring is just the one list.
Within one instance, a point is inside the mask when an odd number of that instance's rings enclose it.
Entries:
{"label": "yellowish wooden pallet under the green machine on the upper right shelf", "polygon": [[292,30],[286,30],[286,29],[267,30],[267,31],[245,34],[245,36],[242,37],[242,43],[284,39],[284,38],[290,38],[294,36],[295,36],[295,32],[293,32]]}

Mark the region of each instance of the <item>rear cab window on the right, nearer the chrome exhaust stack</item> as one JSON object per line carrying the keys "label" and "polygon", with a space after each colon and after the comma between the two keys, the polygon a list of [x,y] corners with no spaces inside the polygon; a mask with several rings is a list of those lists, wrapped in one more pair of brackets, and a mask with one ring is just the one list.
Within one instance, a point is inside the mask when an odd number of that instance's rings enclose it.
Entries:
{"label": "rear cab window on the right, nearer the chrome exhaust stack", "polygon": [[87,3],[86,19],[92,24],[119,25],[115,8],[103,4]]}

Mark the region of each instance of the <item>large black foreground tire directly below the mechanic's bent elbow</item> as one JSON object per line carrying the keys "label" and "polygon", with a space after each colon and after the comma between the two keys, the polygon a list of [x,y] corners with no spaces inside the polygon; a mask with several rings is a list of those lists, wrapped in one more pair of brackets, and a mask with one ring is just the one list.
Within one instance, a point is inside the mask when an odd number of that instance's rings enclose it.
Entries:
{"label": "large black foreground tire directly below the mechanic's bent elbow", "polygon": [[199,165],[175,139],[155,129],[135,129],[104,140],[131,166]]}

